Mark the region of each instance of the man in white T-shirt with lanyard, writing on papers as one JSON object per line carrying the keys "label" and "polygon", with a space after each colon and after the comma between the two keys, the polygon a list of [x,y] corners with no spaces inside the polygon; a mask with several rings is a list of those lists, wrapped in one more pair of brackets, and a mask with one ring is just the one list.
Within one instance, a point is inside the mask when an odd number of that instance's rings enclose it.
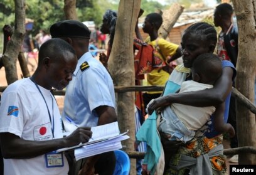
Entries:
{"label": "man in white T-shirt with lanyard, writing on papers", "polygon": [[68,174],[66,157],[55,151],[88,142],[92,132],[79,127],[63,137],[61,115],[51,89],[65,88],[76,65],[72,46],[58,38],[48,40],[40,48],[34,75],[4,90],[0,107],[4,174]]}

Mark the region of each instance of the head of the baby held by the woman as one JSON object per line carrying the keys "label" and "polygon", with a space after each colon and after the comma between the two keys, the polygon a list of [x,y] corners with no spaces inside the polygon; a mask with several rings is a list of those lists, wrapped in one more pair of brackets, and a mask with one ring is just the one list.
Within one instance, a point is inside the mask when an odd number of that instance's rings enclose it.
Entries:
{"label": "head of the baby held by the woman", "polygon": [[221,60],[213,53],[199,55],[191,68],[195,82],[213,85],[222,72]]}

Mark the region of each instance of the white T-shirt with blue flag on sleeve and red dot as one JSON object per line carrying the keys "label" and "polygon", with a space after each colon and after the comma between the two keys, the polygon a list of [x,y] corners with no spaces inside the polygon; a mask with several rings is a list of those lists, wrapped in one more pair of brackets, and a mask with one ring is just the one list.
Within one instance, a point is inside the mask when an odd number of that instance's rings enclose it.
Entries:
{"label": "white T-shirt with blue flag on sleeve and red dot", "polygon": [[[61,138],[61,115],[56,101],[54,98],[51,100],[50,90],[38,87],[45,97],[52,123],[54,116],[55,139]],[[0,106],[0,132],[9,132],[29,141],[53,139],[45,101],[29,78],[18,80],[4,90]],[[65,156],[63,158],[63,167],[51,168],[46,167],[45,154],[31,159],[4,159],[4,174],[67,174],[68,162]]]}

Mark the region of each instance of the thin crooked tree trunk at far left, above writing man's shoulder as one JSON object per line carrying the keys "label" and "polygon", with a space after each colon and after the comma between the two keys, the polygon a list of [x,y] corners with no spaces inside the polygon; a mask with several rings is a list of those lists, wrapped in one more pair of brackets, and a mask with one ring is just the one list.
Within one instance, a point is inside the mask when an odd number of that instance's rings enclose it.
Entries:
{"label": "thin crooked tree trunk at far left, above writing man's shoulder", "polygon": [[24,0],[15,0],[15,29],[3,55],[3,64],[8,85],[18,80],[16,62],[25,35]]}

